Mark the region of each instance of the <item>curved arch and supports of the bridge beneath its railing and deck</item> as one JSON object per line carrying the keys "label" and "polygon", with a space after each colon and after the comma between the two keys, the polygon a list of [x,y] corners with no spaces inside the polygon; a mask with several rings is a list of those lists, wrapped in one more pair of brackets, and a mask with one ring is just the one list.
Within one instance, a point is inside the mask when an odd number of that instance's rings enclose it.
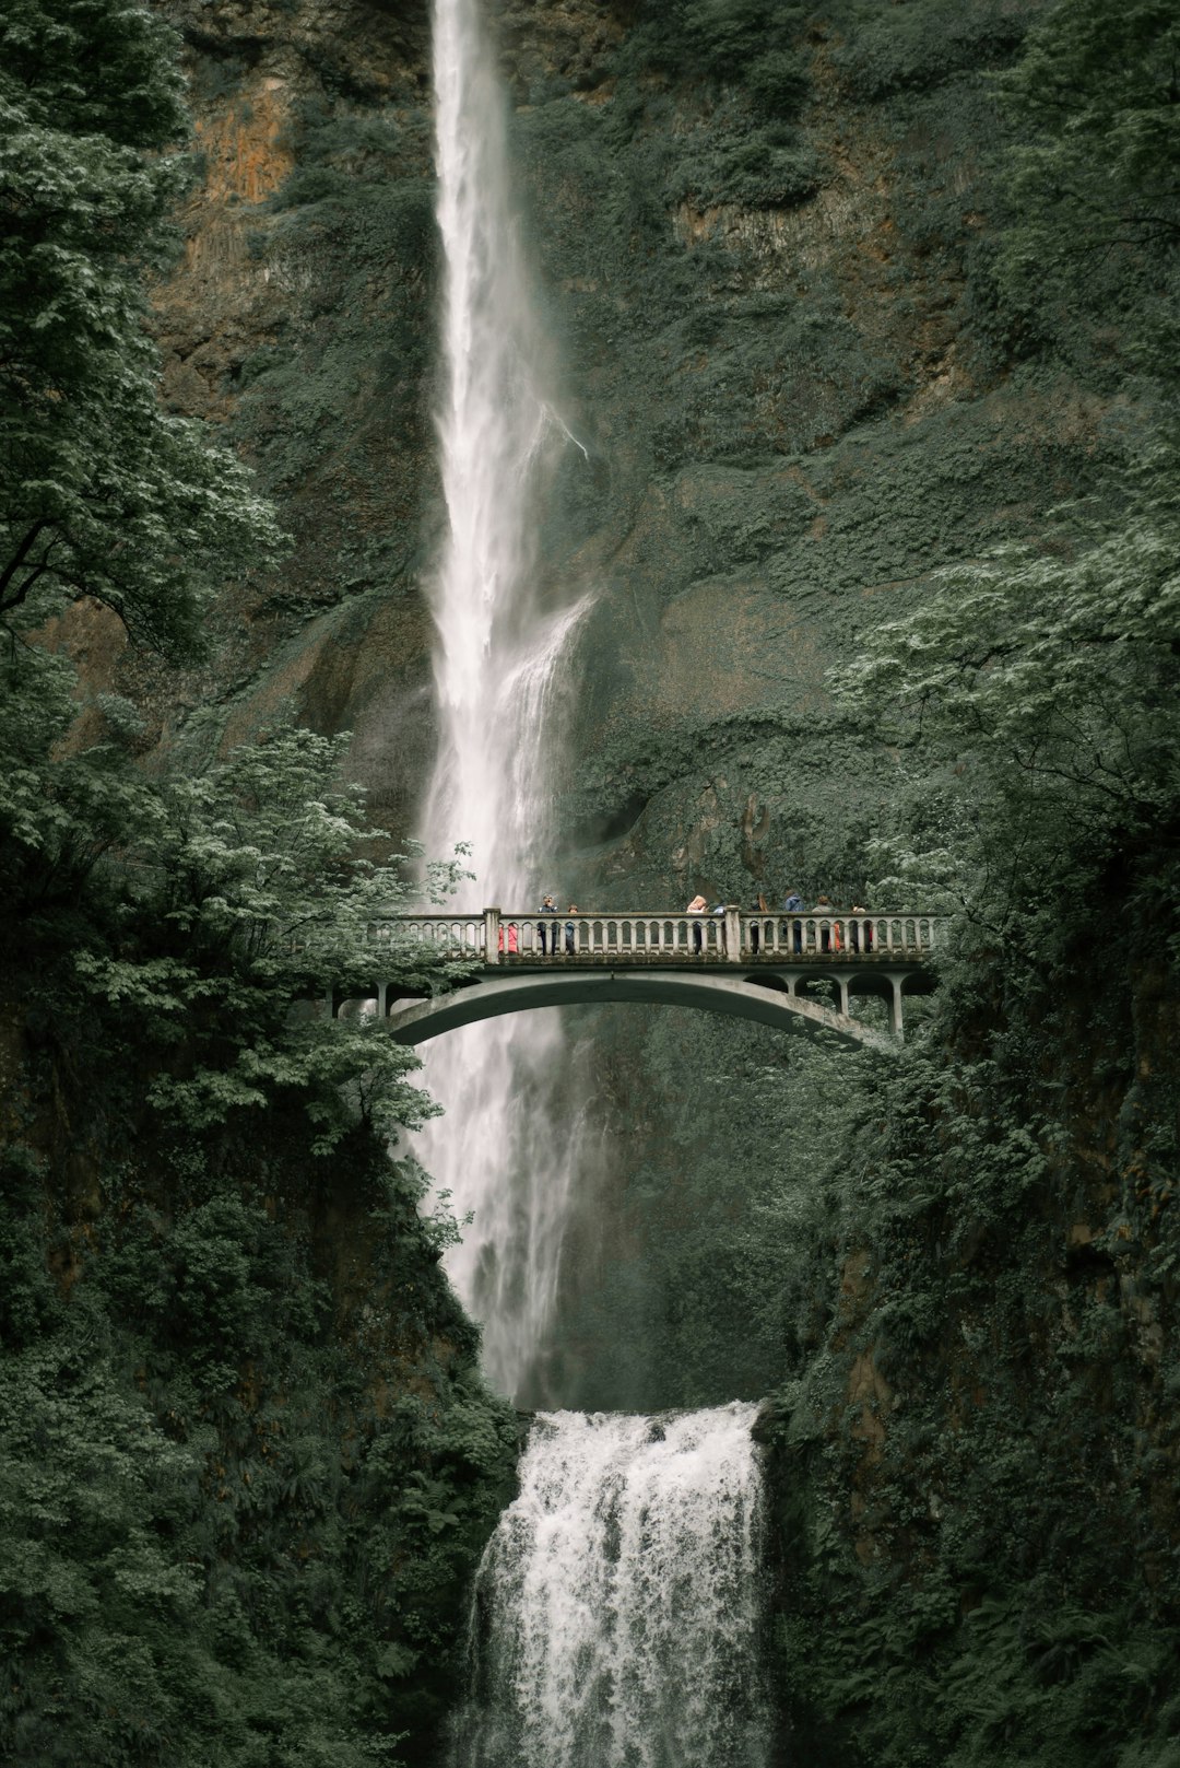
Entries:
{"label": "curved arch and supports of the bridge beneath its railing and deck", "polygon": [[[486,976],[433,999],[385,1002],[378,990],[380,1011],[399,1043],[426,1043],[445,1031],[473,1025],[482,1018],[503,1013],[525,1013],[541,1006],[594,1006],[595,1002],[652,1002],[661,1006],[692,1006],[708,1013],[728,1013],[749,1018],[777,1031],[804,1031],[813,1036],[825,1033],[855,1048],[896,1048],[901,1036],[901,995],[927,985],[920,972],[892,967],[873,967],[866,974],[836,978],[843,1011],[811,1001],[795,990],[809,981],[834,979],[830,969],[791,969],[781,974],[747,976],[717,972],[578,969],[578,971],[491,971]],[[846,1011],[851,994],[881,995],[890,1004],[894,1036],[874,1031],[851,1018]]]}

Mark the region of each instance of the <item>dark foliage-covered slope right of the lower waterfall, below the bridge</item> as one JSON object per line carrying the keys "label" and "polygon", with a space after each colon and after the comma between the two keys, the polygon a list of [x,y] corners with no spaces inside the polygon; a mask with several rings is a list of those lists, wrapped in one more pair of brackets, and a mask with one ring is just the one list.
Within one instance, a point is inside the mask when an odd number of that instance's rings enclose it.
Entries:
{"label": "dark foliage-covered slope right of the lower waterfall, below the bridge", "polygon": [[[979,967],[949,972],[943,1038],[963,1038]],[[1083,1199],[1074,1165],[1093,1158],[1074,1101],[1086,1087],[1116,1112],[1139,1059],[1109,978],[1095,1017],[1074,987],[1058,1024],[1026,987],[989,1022],[993,1057],[934,1043],[876,1070],[843,1181],[828,1172],[834,1331],[770,1427],[781,1665],[820,1759],[1113,1768],[1129,1733],[1155,1759],[1175,1718],[1180,1614],[1169,1579],[1145,1577],[1168,1554],[1145,1499],[1175,1430],[1146,1421],[1122,1200]],[[1116,1064],[1097,1098],[1083,1024]],[[1108,1223],[1085,1255],[1065,1252],[1065,1188]],[[1175,1223],[1146,1234],[1173,1243]],[[1166,1287],[1150,1307],[1168,1317]]]}

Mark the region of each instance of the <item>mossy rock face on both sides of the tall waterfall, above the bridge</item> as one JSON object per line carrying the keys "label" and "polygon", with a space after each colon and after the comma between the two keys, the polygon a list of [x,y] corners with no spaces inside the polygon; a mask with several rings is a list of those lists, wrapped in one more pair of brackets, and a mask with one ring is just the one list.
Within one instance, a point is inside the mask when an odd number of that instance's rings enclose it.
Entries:
{"label": "mossy rock face on both sides of the tall waterfall, above the bridge", "polygon": [[[230,426],[295,545],[226,596],[205,679],[129,686],[163,739],[210,697],[228,739],[283,700],[350,730],[403,829],[440,520],[427,7],[166,11],[201,156],[157,295],[166,396]],[[876,785],[828,728],[825,668],[1085,477],[1101,414],[1063,382],[1014,387],[986,350],[980,76],[1030,11],[998,30],[980,4],[942,62],[890,65],[839,9],[788,9],[761,53],[680,42],[636,4],[491,7],[590,456],[571,449],[544,523],[548,569],[595,596],[567,799],[581,896],[744,900],[839,870]]]}

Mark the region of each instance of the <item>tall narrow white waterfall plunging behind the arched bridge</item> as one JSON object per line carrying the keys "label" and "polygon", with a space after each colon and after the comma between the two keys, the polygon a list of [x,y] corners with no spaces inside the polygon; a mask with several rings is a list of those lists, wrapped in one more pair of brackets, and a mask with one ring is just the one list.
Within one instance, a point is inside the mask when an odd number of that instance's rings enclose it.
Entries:
{"label": "tall narrow white waterfall plunging behind the arched bridge", "polygon": [[[470,843],[475,882],[459,907],[521,909],[558,891],[562,663],[581,606],[544,582],[533,534],[546,470],[571,437],[548,391],[511,205],[505,99],[477,0],[435,4],[435,88],[447,539],[435,582],[440,746],[422,840],[433,856]],[[576,1124],[553,1121],[560,1061],[553,1015],[523,1015],[452,1033],[426,1064],[447,1116],[426,1130],[422,1160],[459,1218],[473,1213],[449,1269],[484,1322],[488,1374],[509,1395],[526,1391],[553,1310],[576,1140]]]}

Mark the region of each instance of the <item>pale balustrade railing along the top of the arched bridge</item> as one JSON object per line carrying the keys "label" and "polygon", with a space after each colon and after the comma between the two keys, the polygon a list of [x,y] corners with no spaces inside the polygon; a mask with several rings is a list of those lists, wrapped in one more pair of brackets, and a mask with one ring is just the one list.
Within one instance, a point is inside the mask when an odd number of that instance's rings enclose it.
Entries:
{"label": "pale balustrade railing along the top of the arched bridge", "polygon": [[382,948],[424,942],[445,958],[482,964],[512,960],[590,964],[836,962],[924,958],[936,944],[929,914],[516,914],[503,909],[465,914],[390,914],[369,923]]}

